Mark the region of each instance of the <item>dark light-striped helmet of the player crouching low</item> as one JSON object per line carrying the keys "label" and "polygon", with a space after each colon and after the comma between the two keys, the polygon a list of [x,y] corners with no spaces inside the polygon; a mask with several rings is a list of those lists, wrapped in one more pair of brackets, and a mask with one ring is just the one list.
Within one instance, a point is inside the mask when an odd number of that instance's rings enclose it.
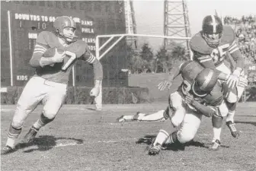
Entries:
{"label": "dark light-striped helmet of the player crouching low", "polygon": [[204,68],[197,74],[192,84],[192,91],[197,97],[205,97],[213,90],[218,81],[218,74],[210,68]]}

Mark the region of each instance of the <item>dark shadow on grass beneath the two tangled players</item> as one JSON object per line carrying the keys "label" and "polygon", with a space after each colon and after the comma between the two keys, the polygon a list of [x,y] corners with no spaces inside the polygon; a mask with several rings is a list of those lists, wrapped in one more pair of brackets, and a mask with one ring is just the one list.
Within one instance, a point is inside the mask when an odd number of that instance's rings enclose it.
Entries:
{"label": "dark shadow on grass beneath the two tangled players", "polygon": [[[150,145],[152,144],[152,141],[155,139],[155,135],[146,135],[143,138],[139,138],[138,141],[136,141],[136,144],[147,144]],[[210,143],[201,143],[199,141],[189,141],[185,144],[180,144],[180,143],[174,143],[174,144],[166,144],[163,148],[165,150],[174,150],[174,151],[178,151],[178,150],[185,150],[185,147],[188,146],[194,146],[194,147],[204,147],[204,148],[210,148],[211,144]],[[229,146],[226,145],[221,145],[220,147],[224,147],[224,148],[229,148]]]}

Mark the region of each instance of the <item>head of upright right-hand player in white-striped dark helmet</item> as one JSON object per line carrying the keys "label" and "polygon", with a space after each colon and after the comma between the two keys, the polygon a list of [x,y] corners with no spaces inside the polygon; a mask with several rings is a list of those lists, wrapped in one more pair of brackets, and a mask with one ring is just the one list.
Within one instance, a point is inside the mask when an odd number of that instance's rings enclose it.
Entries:
{"label": "head of upright right-hand player in white-striped dark helmet", "polygon": [[207,15],[203,18],[203,39],[213,48],[219,46],[222,37],[223,25],[222,21],[216,15]]}

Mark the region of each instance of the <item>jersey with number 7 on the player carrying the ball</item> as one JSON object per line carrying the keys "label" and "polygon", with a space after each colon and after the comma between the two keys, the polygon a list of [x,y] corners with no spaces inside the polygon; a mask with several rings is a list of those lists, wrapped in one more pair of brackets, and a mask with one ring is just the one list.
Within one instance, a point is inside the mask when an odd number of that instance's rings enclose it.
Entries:
{"label": "jersey with number 7 on the player carrying the ball", "polygon": [[64,58],[63,62],[55,63],[54,65],[46,65],[44,67],[36,67],[35,75],[45,78],[48,81],[67,84],[69,81],[70,71],[72,70],[72,66],[74,65],[77,59],[79,59],[82,55],[85,55],[85,58],[83,58],[85,59],[85,61],[94,61],[94,56],[87,54],[89,50],[87,44],[84,41],[78,40],[74,43],[62,44],[59,41],[59,37],[56,36],[55,33],[48,31],[43,31],[39,33],[31,60],[36,60],[37,58],[37,61],[40,61],[40,58],[43,55],[43,53],[46,52],[46,49],[50,48],[57,48],[67,50],[70,52],[75,52],[76,59],[72,61],[72,65],[69,65],[69,67],[66,70],[62,70],[62,66],[69,60],[69,57],[67,55]]}

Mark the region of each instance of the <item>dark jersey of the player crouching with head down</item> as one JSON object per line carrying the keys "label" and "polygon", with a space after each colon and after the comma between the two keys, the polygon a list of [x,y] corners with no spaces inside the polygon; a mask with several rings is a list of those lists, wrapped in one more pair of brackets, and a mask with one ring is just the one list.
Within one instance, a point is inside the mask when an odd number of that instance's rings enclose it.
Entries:
{"label": "dark jersey of the player crouching with head down", "polygon": [[[181,97],[184,98],[189,93],[194,96],[194,100],[197,100],[200,103],[204,103],[208,106],[218,106],[220,103],[222,103],[223,100],[222,86],[219,81],[213,87],[213,90],[206,95],[206,97],[197,97],[191,89],[194,79],[197,77],[197,74],[199,74],[202,70],[203,67],[198,62],[184,62],[181,65],[180,69],[183,82],[178,88],[178,93],[180,93]],[[190,106],[190,108],[194,107]]]}

